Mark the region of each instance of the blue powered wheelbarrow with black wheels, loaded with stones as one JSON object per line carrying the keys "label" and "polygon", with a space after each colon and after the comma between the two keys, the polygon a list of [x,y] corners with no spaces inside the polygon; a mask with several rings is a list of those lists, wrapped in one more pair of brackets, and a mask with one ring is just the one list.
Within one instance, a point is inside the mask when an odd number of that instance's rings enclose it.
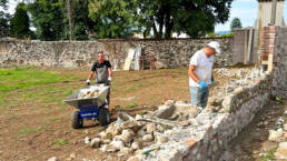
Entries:
{"label": "blue powered wheelbarrow with black wheels, loaded with stones", "polygon": [[[71,127],[73,129],[82,128],[85,119],[98,120],[101,125],[109,124],[109,110],[105,108],[106,95],[109,88],[108,85],[89,85],[62,100],[78,109],[71,114]],[[91,94],[91,92],[93,92],[93,94]]]}

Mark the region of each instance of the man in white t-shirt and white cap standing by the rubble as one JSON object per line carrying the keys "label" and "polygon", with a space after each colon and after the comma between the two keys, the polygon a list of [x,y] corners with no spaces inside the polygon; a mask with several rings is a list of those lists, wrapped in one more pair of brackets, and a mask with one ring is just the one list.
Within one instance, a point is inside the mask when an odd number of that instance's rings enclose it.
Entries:
{"label": "man in white t-shirt and white cap standing by the rubble", "polygon": [[214,82],[212,66],[216,53],[220,53],[220,46],[217,41],[211,41],[190,59],[188,76],[192,105],[207,105],[208,84]]}

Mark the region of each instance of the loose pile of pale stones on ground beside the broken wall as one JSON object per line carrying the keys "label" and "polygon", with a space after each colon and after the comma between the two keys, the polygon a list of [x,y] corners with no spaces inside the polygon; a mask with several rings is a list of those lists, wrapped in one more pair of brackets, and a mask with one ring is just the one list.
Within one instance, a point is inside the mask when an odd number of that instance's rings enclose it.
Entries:
{"label": "loose pile of pale stones on ground beside the broken wall", "polygon": [[154,143],[167,142],[171,128],[189,125],[189,119],[199,111],[186,102],[168,100],[157,111],[144,115],[133,118],[121,112],[106,131],[95,138],[87,137],[83,142],[103,152],[128,154]]}

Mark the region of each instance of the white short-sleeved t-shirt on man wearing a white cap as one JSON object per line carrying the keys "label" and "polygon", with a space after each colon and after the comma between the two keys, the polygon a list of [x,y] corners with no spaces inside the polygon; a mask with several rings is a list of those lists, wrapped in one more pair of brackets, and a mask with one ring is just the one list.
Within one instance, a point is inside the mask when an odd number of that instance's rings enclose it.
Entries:
{"label": "white short-sleeved t-shirt on man wearing a white cap", "polygon": [[[211,83],[211,71],[214,66],[214,56],[207,57],[202,50],[198,50],[190,59],[189,66],[196,66],[194,71],[197,78],[208,84]],[[190,87],[199,87],[199,84],[189,77]]]}

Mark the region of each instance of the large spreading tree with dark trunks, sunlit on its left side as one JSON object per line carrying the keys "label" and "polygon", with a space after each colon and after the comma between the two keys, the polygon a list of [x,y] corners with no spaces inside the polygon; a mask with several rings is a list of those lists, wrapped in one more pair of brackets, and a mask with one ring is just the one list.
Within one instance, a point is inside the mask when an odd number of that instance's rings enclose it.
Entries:
{"label": "large spreading tree with dark trunks, sunlit on its left side", "polygon": [[[144,36],[170,38],[185,32],[191,38],[214,31],[228,20],[232,0],[90,0],[90,16],[103,20],[105,30],[140,29]],[[102,17],[103,16],[103,17]],[[119,30],[116,30],[119,29]],[[103,29],[99,29],[102,32]]]}

